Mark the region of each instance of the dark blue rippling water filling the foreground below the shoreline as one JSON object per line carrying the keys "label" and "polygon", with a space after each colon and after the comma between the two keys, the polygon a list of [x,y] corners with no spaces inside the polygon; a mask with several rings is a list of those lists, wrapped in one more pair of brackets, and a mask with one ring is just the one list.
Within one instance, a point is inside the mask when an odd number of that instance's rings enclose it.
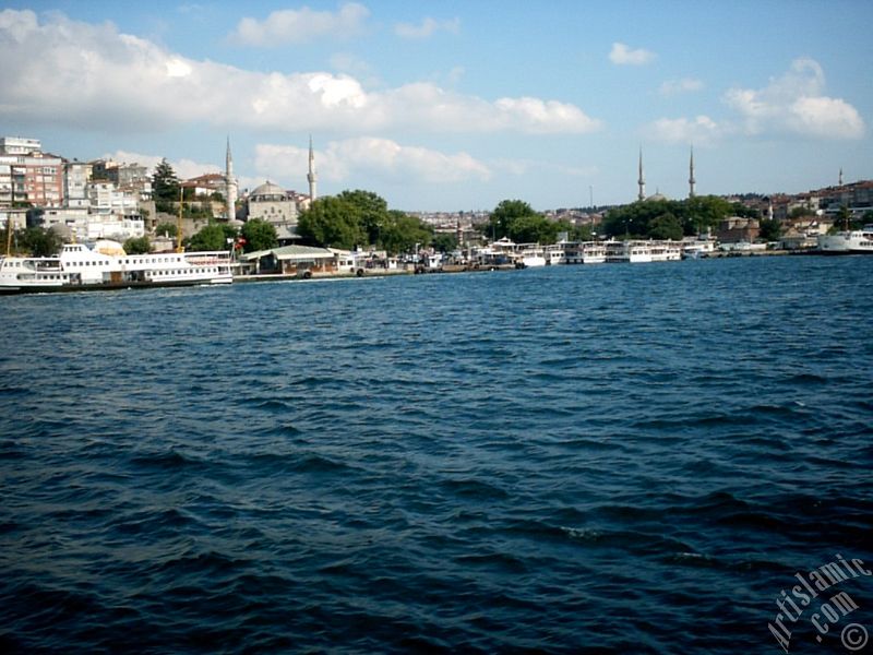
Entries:
{"label": "dark blue rippling water filling the foreground below the shoreline", "polygon": [[[873,564],[873,258],[0,299],[4,652],[779,653]],[[791,652],[841,651],[859,609]],[[833,590],[833,591],[838,591]],[[817,603],[817,600],[816,600]]]}

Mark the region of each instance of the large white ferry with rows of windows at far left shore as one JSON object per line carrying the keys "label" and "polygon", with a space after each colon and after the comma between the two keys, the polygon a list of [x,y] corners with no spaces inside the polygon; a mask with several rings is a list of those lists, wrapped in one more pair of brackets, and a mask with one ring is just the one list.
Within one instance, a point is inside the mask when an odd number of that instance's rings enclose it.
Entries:
{"label": "large white ferry with rows of windows at far left shore", "polygon": [[127,254],[117,241],[65,243],[57,257],[0,258],[0,294],[170,287],[234,282],[230,254]]}

